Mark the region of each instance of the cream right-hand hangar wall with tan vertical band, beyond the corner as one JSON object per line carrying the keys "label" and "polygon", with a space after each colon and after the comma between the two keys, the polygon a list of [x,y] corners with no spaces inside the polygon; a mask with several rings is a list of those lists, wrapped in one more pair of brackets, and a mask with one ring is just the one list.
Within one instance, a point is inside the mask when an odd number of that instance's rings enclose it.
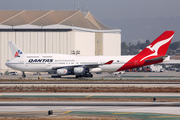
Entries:
{"label": "cream right-hand hangar wall with tan vertical band, beyond the corner", "polygon": [[120,33],[75,32],[75,50],[80,55],[121,55]]}

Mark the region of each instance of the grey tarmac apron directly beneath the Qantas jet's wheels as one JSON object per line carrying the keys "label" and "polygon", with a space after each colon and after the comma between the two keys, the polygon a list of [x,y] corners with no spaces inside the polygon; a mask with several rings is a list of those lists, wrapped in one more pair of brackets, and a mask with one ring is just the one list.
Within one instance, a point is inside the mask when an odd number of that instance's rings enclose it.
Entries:
{"label": "grey tarmac apron directly beneath the Qantas jet's wheels", "polygon": [[[114,75],[109,73],[102,73],[102,74],[93,74],[93,78],[85,78],[85,79],[135,79],[135,80],[180,80],[180,72],[176,71],[164,71],[164,72],[126,72],[125,74]],[[74,75],[69,76],[62,76],[62,78],[51,78],[49,74],[42,74],[42,75],[32,75],[31,73],[26,73],[26,80],[38,79],[41,77],[42,79],[77,79]],[[18,75],[0,75],[0,79],[22,79],[22,74],[19,73]]]}

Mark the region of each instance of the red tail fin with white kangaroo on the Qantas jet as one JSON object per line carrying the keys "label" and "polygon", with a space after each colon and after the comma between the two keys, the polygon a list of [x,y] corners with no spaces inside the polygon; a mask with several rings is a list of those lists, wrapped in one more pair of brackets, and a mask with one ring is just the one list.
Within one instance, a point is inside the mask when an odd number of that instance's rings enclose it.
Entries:
{"label": "red tail fin with white kangaroo on the Qantas jet", "polygon": [[[131,58],[117,71],[156,64],[163,61],[175,31],[165,31],[139,54]],[[149,62],[148,62],[149,61]]]}

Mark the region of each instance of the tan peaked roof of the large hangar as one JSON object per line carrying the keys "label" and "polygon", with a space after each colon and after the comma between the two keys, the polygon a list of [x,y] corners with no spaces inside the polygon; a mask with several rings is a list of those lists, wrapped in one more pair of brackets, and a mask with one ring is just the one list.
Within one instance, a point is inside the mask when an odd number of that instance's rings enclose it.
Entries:
{"label": "tan peaked roof of the large hangar", "polygon": [[113,30],[102,24],[90,12],[84,16],[80,10],[0,11],[0,28],[67,28],[67,26],[86,30]]}

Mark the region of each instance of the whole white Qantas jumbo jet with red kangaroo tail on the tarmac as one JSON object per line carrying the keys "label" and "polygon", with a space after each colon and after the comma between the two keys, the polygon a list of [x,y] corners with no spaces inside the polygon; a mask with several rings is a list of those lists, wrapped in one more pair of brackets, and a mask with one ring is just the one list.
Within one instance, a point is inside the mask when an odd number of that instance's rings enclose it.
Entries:
{"label": "whole white Qantas jumbo jet with red kangaroo tail on the tarmac", "polygon": [[14,55],[6,66],[25,72],[55,72],[58,76],[76,75],[93,77],[93,72],[117,72],[126,69],[161,63],[175,31],[165,31],[137,55],[128,56],[75,56],[65,54],[25,54],[9,41]]}

